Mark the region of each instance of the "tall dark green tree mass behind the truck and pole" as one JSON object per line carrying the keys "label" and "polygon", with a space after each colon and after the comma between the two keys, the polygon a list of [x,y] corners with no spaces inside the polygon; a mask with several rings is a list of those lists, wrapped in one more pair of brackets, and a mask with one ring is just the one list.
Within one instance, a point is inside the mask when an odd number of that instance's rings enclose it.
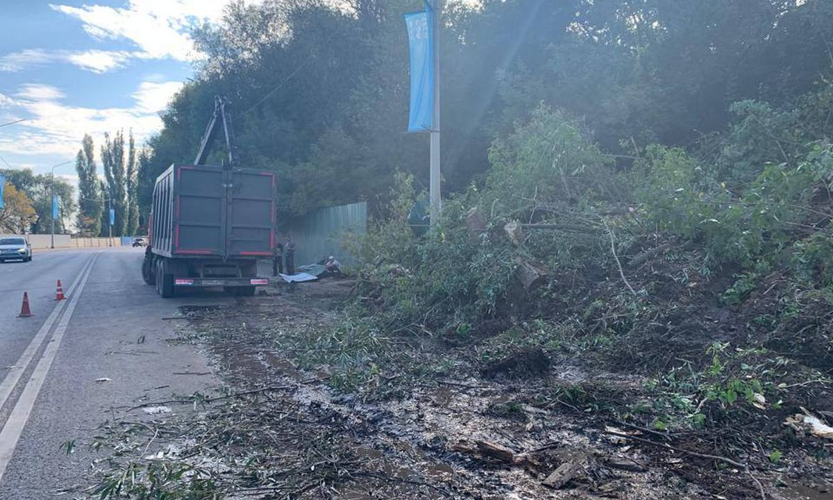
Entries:
{"label": "tall dark green tree mass behind the truck and pole", "polygon": [[[232,3],[222,23],[195,33],[207,57],[162,114],[164,128],[140,163],[142,210],[152,180],[196,152],[215,94],[232,99],[242,166],[277,171],[284,215],[383,201],[397,170],[426,185],[427,138],[403,133],[401,14],[421,6]],[[449,2],[443,190],[483,178],[492,140],[541,102],[582,117],[587,137],[619,163],[634,146],[689,146],[724,133],[744,112],[731,102],[779,106],[816,84],[831,64],[833,28],[820,21],[831,14],[819,0]]]}

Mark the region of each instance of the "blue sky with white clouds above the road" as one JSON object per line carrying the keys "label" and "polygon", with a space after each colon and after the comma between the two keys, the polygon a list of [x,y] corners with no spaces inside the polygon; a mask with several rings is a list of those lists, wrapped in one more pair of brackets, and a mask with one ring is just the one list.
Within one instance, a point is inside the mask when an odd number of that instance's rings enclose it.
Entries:
{"label": "blue sky with white clouds above the road", "polygon": [[[97,153],[119,128],[142,143],[200,58],[192,27],[217,22],[227,2],[0,0],[0,124],[26,119],[0,128],[0,166],[48,173],[84,133]],[[72,163],[55,173],[74,182]]]}

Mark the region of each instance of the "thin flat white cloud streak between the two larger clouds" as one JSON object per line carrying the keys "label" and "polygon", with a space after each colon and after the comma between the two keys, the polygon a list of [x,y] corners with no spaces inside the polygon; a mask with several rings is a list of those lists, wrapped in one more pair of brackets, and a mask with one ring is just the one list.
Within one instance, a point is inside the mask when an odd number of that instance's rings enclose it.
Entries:
{"label": "thin flat white cloud streak between the two larger clouds", "polygon": [[44,66],[52,62],[68,62],[87,71],[102,73],[124,66],[130,57],[144,57],[144,54],[96,49],[72,52],[27,48],[0,57],[0,72],[18,72],[27,67]]}

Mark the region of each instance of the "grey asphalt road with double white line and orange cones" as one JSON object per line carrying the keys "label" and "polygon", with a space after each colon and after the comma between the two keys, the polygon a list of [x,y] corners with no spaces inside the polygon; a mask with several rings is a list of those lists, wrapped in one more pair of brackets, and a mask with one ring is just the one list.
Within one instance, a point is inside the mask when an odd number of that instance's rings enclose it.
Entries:
{"label": "grey asphalt road with double white line and orange cones", "polygon": [[[212,375],[196,374],[212,371],[202,353],[167,342],[177,322],[162,318],[185,304],[234,299],[220,292],[159,298],[142,282],[141,261],[141,249],[113,248],[0,264],[2,500],[55,498],[80,483],[92,460],[103,458],[85,443],[126,408],[216,387]],[[67,301],[54,300],[57,279]],[[32,318],[17,318],[24,291]],[[61,445],[71,440],[76,451],[67,456]]]}

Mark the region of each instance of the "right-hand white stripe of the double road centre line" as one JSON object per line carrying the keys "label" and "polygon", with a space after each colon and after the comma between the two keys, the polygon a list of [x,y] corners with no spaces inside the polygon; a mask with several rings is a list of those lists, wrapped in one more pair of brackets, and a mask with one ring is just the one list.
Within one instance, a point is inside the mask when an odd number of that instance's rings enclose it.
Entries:
{"label": "right-hand white stripe of the double road centre line", "polygon": [[72,313],[75,311],[78,298],[81,296],[84,284],[87,283],[87,278],[90,276],[96,258],[97,255],[92,257],[83,276],[78,280],[78,288],[75,294],[67,300],[69,303],[67,312],[63,314],[61,321],[57,324],[55,333],[52,334],[52,339],[47,343],[47,347],[43,351],[43,356],[37,362],[37,366],[32,372],[32,377],[29,378],[26,387],[23,388],[20,398],[17,399],[17,404],[14,405],[12,413],[8,416],[6,425],[0,431],[0,482],[2,482],[3,474],[6,473],[6,467],[9,461],[12,460],[12,453],[14,453],[14,448],[17,448],[17,441],[23,433],[23,427],[26,425],[29,415],[32,413],[32,408],[35,406],[37,394],[41,392],[43,381],[46,380],[49,368],[52,367],[52,361],[55,360],[57,349],[61,347],[63,334],[67,331],[67,325],[72,318]]}

